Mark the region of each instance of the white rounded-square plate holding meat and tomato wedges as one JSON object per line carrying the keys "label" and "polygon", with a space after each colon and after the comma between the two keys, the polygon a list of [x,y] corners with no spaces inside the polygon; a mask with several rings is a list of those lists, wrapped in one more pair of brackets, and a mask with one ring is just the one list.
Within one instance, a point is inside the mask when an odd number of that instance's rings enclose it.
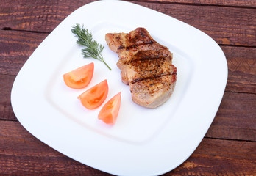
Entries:
{"label": "white rounded-square plate holding meat and tomato wedges", "polygon": [[[71,28],[84,24],[104,45],[112,71],[96,59],[83,59]],[[107,32],[145,27],[174,53],[177,86],[157,109],[131,100],[121,83],[118,56],[104,41]],[[63,73],[94,62],[93,80],[85,89],[63,83]],[[121,91],[115,125],[97,119],[77,96],[107,79],[109,100]],[[182,164],[199,145],[216,115],[227,83],[227,62],[207,34],[160,12],[125,1],[96,1],[80,7],[39,45],[13,84],[13,111],[27,131],[76,161],[114,175],[160,175]]]}

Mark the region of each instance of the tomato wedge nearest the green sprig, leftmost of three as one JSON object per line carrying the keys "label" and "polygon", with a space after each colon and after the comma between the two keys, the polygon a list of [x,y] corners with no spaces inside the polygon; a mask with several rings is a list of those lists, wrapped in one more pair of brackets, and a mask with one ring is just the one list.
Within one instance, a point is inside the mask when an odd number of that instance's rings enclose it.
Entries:
{"label": "tomato wedge nearest the green sprig, leftmost of three", "polygon": [[88,86],[93,78],[94,64],[91,62],[88,65],[72,70],[63,75],[64,82],[68,87],[73,89],[82,89]]}

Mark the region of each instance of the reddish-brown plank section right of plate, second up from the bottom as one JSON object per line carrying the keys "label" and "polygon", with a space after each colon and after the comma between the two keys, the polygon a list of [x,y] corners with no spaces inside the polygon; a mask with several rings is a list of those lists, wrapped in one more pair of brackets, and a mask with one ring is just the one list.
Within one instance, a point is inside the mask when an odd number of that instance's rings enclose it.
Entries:
{"label": "reddish-brown plank section right of plate, second up from the bottom", "polygon": [[225,92],[206,136],[256,142],[256,94]]}

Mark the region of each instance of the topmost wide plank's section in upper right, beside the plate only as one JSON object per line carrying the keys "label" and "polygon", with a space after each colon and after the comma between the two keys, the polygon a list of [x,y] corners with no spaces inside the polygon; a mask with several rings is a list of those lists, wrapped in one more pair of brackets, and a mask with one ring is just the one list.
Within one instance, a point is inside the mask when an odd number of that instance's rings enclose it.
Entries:
{"label": "topmost wide plank's section in upper right, beside the plate only", "polygon": [[256,45],[256,9],[139,2],[136,4],[188,23],[208,34],[218,44]]}

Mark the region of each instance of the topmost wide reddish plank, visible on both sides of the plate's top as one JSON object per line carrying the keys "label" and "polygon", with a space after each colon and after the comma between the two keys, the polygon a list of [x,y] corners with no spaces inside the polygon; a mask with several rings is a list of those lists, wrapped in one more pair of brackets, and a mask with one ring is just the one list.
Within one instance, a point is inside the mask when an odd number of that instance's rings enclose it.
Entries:
{"label": "topmost wide reddish plank, visible on both sides of the plate's top", "polygon": [[[21,6],[23,1],[10,1],[15,7],[1,4],[0,29],[51,32],[65,17],[89,1],[37,1]],[[40,4],[41,3],[41,4]],[[213,37],[219,44],[256,45],[256,9],[237,7],[196,6],[136,2],[153,10],[166,13]],[[68,8],[67,8],[68,7]],[[15,18],[13,18],[15,17]],[[152,19],[152,21],[157,19]]]}

